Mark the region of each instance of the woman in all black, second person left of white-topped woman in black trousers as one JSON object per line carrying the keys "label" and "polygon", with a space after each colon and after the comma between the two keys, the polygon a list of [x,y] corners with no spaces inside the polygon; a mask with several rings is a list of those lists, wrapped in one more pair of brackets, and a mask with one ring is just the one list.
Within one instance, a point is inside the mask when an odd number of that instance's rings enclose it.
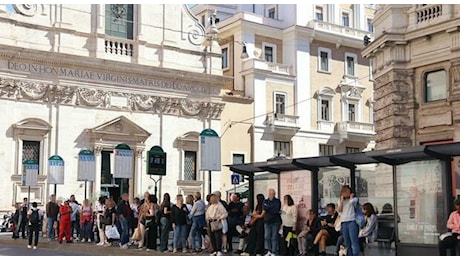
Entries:
{"label": "woman in all black, second person left of white-topped woman in black trousers", "polygon": [[241,253],[242,256],[262,255],[265,251],[265,223],[263,216],[265,196],[263,194],[257,194],[256,200],[256,208],[254,209],[251,221],[249,222],[251,230],[248,234],[248,245],[246,246],[244,252]]}

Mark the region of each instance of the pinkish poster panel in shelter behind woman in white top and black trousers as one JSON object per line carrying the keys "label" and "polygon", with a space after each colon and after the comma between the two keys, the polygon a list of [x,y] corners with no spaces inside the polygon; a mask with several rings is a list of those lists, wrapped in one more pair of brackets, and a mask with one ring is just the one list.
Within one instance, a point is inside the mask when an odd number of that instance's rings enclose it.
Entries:
{"label": "pinkish poster panel in shelter behind woman in white top and black trousers", "polygon": [[297,206],[297,230],[301,230],[308,219],[311,209],[311,176],[310,171],[283,172],[280,175],[280,200],[284,195],[291,195]]}

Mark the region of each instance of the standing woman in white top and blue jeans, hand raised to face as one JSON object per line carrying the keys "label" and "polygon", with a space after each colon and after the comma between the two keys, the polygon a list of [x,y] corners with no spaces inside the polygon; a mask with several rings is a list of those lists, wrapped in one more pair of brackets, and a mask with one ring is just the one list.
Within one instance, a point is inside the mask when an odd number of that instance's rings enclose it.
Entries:
{"label": "standing woman in white top and blue jeans, hand raised to face", "polygon": [[347,255],[359,256],[359,227],[356,224],[355,208],[358,205],[358,198],[351,190],[350,186],[345,185],[340,190],[340,200],[338,210],[341,215],[341,233],[347,248]]}

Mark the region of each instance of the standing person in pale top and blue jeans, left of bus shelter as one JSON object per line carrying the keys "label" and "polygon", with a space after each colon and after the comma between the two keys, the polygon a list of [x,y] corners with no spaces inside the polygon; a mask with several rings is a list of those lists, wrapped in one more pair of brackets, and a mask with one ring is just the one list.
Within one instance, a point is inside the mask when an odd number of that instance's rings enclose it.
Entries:
{"label": "standing person in pale top and blue jeans, left of bus shelter", "polygon": [[195,192],[193,195],[195,202],[193,203],[192,210],[190,211],[189,217],[192,218],[192,227],[190,229],[190,236],[192,240],[192,248],[194,253],[201,252],[203,246],[203,240],[201,238],[204,226],[206,226],[206,204],[201,199],[201,193]]}

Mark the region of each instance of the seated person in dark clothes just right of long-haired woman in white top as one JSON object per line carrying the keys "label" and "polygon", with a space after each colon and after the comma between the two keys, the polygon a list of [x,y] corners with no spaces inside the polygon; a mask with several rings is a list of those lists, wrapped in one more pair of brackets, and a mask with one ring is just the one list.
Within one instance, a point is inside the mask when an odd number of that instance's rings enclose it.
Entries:
{"label": "seated person in dark clothes just right of long-haired woman in white top", "polygon": [[321,223],[318,218],[318,214],[311,209],[308,212],[308,220],[305,223],[303,230],[297,236],[299,256],[307,255],[307,251],[313,247],[313,240],[321,229]]}

